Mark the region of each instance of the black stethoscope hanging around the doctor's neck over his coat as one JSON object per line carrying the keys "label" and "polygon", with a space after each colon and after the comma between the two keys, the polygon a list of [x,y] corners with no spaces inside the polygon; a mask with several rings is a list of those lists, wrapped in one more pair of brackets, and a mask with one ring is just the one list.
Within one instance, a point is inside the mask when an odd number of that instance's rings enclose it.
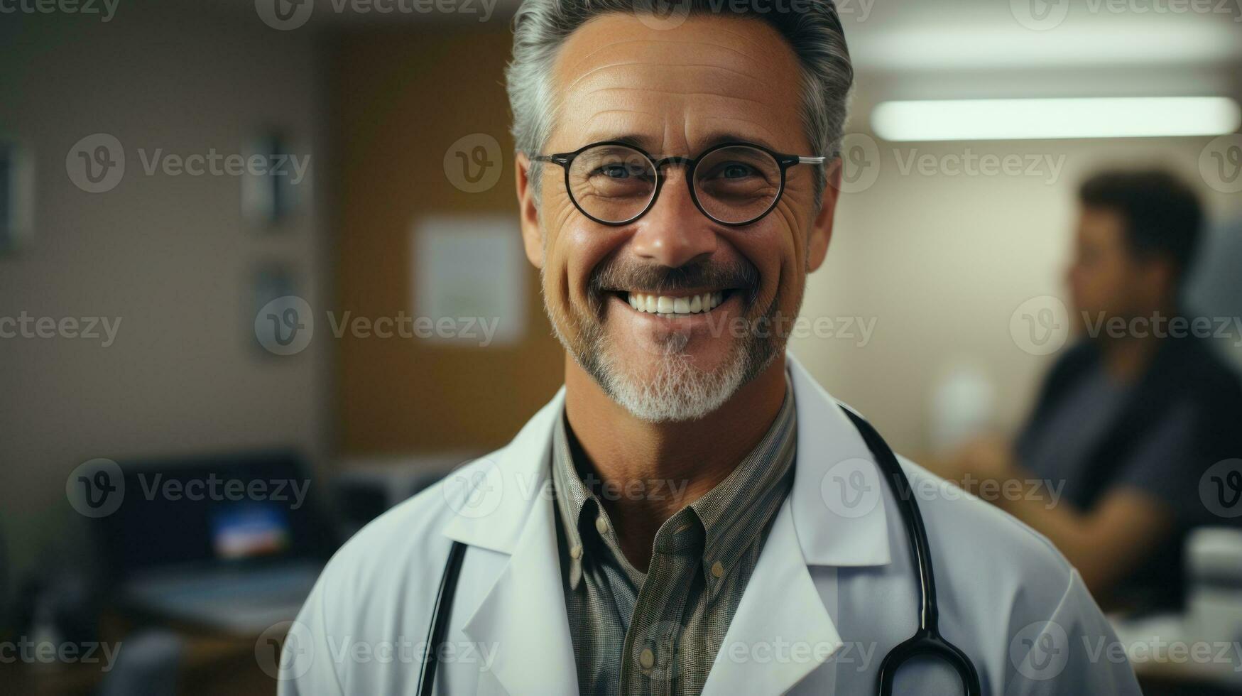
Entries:
{"label": "black stethoscope hanging around the doctor's neck over his coat", "polygon": [[[910,556],[919,569],[919,628],[904,643],[893,648],[879,664],[879,694],[881,696],[893,695],[893,680],[897,670],[914,657],[936,657],[949,664],[961,677],[961,684],[966,687],[968,696],[981,696],[982,689],[979,684],[979,672],[970,657],[940,635],[939,616],[940,610],[935,600],[935,577],[932,574],[932,551],[928,544],[928,534],[923,527],[923,516],[919,513],[910,488],[910,481],[897,462],[897,455],[879,436],[879,433],[869,423],[848,408],[843,409],[854,428],[862,434],[867,447],[876,457],[876,464],[888,478],[897,498],[897,507],[902,513],[902,522],[905,526],[905,534],[910,539]],[[462,558],[466,556],[466,544],[453,542],[448,551],[448,562],[445,563],[445,574],[440,578],[440,589],[436,593],[436,607],[431,614],[431,626],[427,631],[427,649],[422,656],[422,670],[419,676],[419,696],[431,694],[431,687],[436,681],[436,655],[445,640],[448,630],[448,609],[453,605],[453,593],[457,589],[457,578],[461,575]],[[432,648],[433,646],[433,648]]]}

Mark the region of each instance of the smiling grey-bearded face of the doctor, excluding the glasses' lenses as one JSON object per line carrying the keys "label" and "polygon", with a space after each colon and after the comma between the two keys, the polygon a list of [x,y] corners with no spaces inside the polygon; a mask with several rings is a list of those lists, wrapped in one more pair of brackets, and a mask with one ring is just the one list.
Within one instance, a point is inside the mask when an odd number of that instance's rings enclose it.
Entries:
{"label": "smiling grey-bearded face of the doctor, excluding the glasses' lenses", "polygon": [[[792,50],[760,21],[692,16],[652,29],[633,15],[605,15],[558,56],[561,106],[544,153],[623,139],[656,159],[697,157],[725,140],[815,154],[799,76]],[[686,420],[718,408],[782,350],[806,272],[827,249],[835,195],[830,186],[817,219],[814,170],[797,165],[771,213],[729,227],[694,206],[683,168],[662,175],[646,215],[607,226],[574,206],[563,169],[548,164],[538,225],[525,219],[524,234],[549,317],[578,363],[635,415]],[[668,298],[656,300],[657,309],[684,301],[699,311],[641,311],[631,295]],[[713,295],[720,303],[708,311]]]}

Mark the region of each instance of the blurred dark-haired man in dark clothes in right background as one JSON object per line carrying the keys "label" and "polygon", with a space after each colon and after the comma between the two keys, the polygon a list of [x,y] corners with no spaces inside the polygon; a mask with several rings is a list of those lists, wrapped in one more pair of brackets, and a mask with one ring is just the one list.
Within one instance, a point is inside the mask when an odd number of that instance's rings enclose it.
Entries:
{"label": "blurred dark-haired man in dark clothes in right background", "polygon": [[1160,170],[1103,172],[1078,195],[1067,280],[1079,341],[1015,441],[972,441],[940,474],[976,491],[984,481],[1063,485],[1057,505],[985,497],[1047,536],[1107,608],[1176,609],[1189,531],[1227,522],[1205,506],[1200,481],[1242,455],[1238,375],[1208,332],[1190,331],[1196,317],[1182,302],[1203,211]]}

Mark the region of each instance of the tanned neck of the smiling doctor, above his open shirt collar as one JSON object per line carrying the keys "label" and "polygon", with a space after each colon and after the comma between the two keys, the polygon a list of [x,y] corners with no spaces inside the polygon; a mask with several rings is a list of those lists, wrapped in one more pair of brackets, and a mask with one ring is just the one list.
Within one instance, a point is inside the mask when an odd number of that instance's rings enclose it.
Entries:
{"label": "tanned neck of the smiling doctor, above his open shirt collar", "polygon": [[647,423],[609,398],[566,355],[565,415],[575,457],[594,470],[621,551],[646,569],[666,520],[723,481],[759,445],[785,398],[785,355],[707,416]]}

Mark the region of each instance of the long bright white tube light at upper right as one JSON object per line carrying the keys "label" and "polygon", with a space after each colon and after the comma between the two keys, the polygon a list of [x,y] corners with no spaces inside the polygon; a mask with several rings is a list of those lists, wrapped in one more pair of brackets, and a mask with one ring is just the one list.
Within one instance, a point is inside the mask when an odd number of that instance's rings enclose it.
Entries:
{"label": "long bright white tube light at upper right", "polygon": [[871,114],[886,140],[1023,140],[1220,135],[1242,109],[1228,97],[883,102]]}

